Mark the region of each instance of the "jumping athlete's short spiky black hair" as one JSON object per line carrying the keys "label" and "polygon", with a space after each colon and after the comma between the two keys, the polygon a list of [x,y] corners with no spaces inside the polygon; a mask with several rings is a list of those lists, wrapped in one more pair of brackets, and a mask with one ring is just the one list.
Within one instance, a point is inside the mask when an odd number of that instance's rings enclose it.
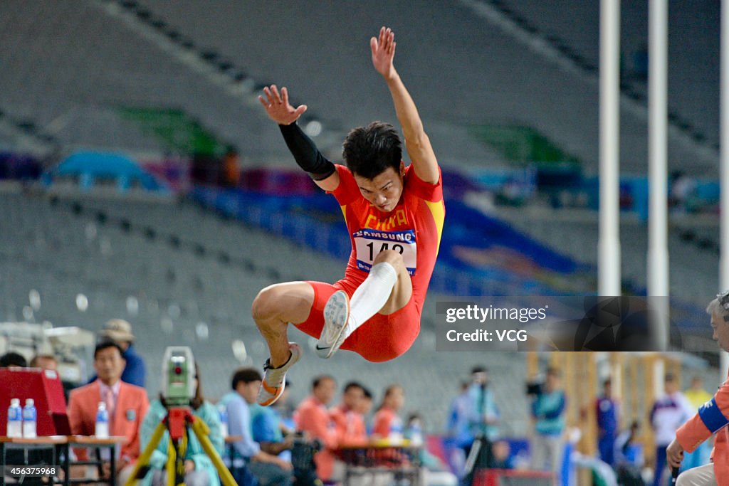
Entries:
{"label": "jumping athlete's short spiky black hair", "polygon": [[388,167],[399,172],[402,144],[392,125],[372,122],[349,132],[344,139],[342,156],[352,173],[372,180]]}

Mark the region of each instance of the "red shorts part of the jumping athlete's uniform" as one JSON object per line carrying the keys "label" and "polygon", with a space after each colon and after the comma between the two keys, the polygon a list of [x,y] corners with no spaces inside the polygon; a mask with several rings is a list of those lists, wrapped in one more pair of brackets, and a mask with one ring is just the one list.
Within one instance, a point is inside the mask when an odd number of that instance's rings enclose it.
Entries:
{"label": "red shorts part of the jumping athlete's uniform", "polygon": [[[351,298],[350,289],[340,282],[332,285],[324,282],[307,282],[314,289],[314,302],[308,318],[297,328],[311,337],[317,339],[324,328],[324,305],[335,291],[346,291]],[[416,307],[415,299],[410,300],[405,307],[389,315],[375,314],[364,324],[359,326],[342,343],[341,349],[358,353],[367,361],[380,363],[397,358],[413,345],[420,333],[420,311]]]}

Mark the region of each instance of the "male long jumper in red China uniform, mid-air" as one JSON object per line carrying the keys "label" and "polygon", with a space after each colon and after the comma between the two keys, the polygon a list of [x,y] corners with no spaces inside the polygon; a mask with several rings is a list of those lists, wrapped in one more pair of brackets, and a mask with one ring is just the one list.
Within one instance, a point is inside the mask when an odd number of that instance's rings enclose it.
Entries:
{"label": "male long jumper in red China uniform, mid-air", "polygon": [[334,165],[296,124],[305,105],[291,106],[286,88],[279,93],[276,85],[264,88],[265,98],[259,96],[297,164],[337,199],[352,243],[342,280],[277,283],[254,300],[253,318],[270,350],[258,394],[262,405],[281,396],[286,371],[301,356],[299,345],[288,340],[289,323],[319,338],[321,358],[342,348],[375,362],[405,353],[420,332],[443,230],[443,182],[418,110],[392,63],[394,33],[381,28],[370,47],[405,135],[408,167],[388,123],[351,130],[343,144],[346,166]]}

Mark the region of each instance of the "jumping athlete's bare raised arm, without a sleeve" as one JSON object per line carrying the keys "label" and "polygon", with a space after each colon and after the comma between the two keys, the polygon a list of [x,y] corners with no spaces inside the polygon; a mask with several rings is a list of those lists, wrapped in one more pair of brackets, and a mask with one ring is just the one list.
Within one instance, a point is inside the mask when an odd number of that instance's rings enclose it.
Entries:
{"label": "jumping athlete's bare raised arm, without a sleeve", "polygon": [[395,34],[390,28],[381,28],[378,38],[370,39],[372,63],[375,69],[385,78],[392,95],[397,119],[405,135],[405,148],[408,149],[410,161],[413,162],[418,177],[430,184],[438,181],[438,162],[430,145],[430,139],[423,129],[423,122],[418,109],[410,98],[410,93],[402,84],[392,60],[395,57]]}

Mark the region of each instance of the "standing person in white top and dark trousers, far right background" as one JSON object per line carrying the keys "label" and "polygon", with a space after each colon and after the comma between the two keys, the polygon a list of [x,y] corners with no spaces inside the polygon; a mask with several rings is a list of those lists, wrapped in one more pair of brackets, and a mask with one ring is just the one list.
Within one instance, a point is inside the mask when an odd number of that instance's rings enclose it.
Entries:
{"label": "standing person in white top and dark trousers, far right background", "polygon": [[666,485],[666,448],[676,439],[676,430],[693,415],[686,397],[679,391],[676,377],[666,373],[663,379],[666,393],[656,399],[650,411],[650,423],[655,434],[655,471],[653,486]]}

